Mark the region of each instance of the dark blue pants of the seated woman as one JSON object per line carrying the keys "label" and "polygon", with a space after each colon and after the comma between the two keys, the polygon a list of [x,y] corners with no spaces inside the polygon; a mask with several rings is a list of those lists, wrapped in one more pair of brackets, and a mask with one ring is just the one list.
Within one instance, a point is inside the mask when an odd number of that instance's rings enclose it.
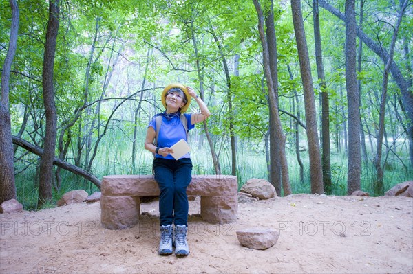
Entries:
{"label": "dark blue pants of the seated woman", "polygon": [[192,162],[189,158],[178,161],[155,158],[155,180],[158,182],[160,225],[188,226],[187,187],[191,183]]}

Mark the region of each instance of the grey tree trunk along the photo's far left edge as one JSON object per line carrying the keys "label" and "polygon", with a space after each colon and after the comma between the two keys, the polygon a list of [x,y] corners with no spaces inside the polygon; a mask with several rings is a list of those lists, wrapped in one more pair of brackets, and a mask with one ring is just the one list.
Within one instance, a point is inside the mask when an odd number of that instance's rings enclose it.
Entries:
{"label": "grey tree trunk along the photo's far left edge", "polygon": [[0,204],[16,198],[16,184],[14,181],[14,151],[12,142],[12,126],[9,111],[9,83],[14,54],[17,49],[17,34],[19,32],[19,7],[16,0],[10,0],[12,10],[12,24],[10,27],[10,41],[1,73],[0,98]]}

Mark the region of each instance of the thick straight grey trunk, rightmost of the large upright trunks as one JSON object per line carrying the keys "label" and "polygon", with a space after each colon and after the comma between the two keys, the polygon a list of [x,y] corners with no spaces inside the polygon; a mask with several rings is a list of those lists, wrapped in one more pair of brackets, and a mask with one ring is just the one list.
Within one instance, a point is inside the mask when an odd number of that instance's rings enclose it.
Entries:
{"label": "thick straight grey trunk, rightmost of the large upright trunks", "polygon": [[346,0],[346,89],[348,101],[348,195],[360,190],[360,95],[356,70],[355,0]]}

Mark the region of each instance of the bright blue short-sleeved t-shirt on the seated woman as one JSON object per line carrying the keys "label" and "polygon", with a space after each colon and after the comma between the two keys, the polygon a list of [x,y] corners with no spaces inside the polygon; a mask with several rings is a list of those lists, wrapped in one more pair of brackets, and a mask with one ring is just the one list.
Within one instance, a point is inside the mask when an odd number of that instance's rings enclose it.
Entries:
{"label": "bright blue short-sleeved t-shirt on the seated woman", "polygon": [[[185,117],[187,117],[187,127],[188,130],[191,130],[192,128],[195,127],[195,125],[191,124],[191,114],[186,114],[184,113]],[[153,128],[156,132],[156,115],[152,118],[151,122],[149,123],[149,126]],[[148,126],[148,127],[149,127]],[[162,116],[162,124],[160,126],[160,130],[158,133],[158,144],[157,146],[160,148],[170,148],[176,142],[178,142],[180,139],[184,139],[185,141],[187,140],[187,133],[185,133],[185,128],[182,125],[182,122],[180,120],[180,117],[178,116],[173,116],[170,120],[167,119],[166,117]],[[166,157],[163,157],[162,155],[156,154],[155,157],[157,158],[163,158],[163,159],[171,159],[175,160],[175,158],[172,157],[172,155],[167,155]],[[186,155],[182,156],[182,158],[189,158],[189,153]]]}

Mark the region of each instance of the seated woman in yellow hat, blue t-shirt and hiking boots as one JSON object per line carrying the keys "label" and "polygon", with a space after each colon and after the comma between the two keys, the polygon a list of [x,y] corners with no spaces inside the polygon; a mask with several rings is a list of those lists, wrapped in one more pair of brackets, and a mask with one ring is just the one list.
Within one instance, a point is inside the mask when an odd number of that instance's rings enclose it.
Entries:
{"label": "seated woman in yellow hat, blue t-shirt and hiking boots", "polygon": [[[191,98],[198,103],[200,112],[183,114],[187,111]],[[158,253],[170,255],[175,246],[176,255],[186,256],[189,254],[187,187],[192,179],[192,162],[189,153],[178,160],[174,159],[171,155],[171,146],[180,139],[188,141],[186,130],[194,128],[196,123],[203,122],[211,113],[193,88],[184,87],[182,84],[169,84],[165,87],[162,92],[162,104],[166,110],[153,117],[145,139],[145,149],[155,154],[153,171],[160,190]],[[157,118],[159,116],[162,118]],[[162,123],[156,123],[156,119],[160,119]],[[182,124],[185,122],[187,125]],[[156,128],[157,124],[160,124],[160,128]],[[153,144],[155,139],[156,146]]]}

